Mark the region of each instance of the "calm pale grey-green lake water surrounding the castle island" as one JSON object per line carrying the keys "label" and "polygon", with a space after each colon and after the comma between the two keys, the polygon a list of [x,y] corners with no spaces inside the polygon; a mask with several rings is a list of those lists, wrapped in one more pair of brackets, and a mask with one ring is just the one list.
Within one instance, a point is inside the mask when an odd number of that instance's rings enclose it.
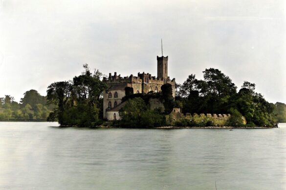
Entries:
{"label": "calm pale grey-green lake water surrounding the castle island", "polygon": [[285,190],[277,129],[78,129],[0,122],[0,189]]}

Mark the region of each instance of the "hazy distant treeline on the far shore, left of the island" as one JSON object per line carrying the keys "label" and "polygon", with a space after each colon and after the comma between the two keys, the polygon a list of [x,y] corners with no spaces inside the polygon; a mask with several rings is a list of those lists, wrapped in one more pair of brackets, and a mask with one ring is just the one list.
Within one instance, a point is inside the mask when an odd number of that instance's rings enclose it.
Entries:
{"label": "hazy distant treeline on the far shore, left of the island", "polygon": [[46,121],[53,108],[46,104],[46,96],[36,90],[25,92],[20,103],[5,95],[0,98],[0,121]]}

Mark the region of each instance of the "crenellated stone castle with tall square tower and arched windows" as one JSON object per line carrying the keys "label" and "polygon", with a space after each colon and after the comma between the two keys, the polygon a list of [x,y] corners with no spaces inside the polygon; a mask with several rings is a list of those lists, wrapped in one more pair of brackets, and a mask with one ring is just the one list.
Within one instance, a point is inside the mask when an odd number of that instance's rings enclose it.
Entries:
{"label": "crenellated stone castle with tall square tower and arched windows", "polygon": [[103,82],[108,85],[108,89],[103,95],[103,118],[107,120],[119,120],[119,110],[125,105],[121,103],[125,96],[125,88],[131,87],[134,93],[160,92],[163,84],[171,84],[173,97],[175,97],[175,78],[172,80],[168,76],[168,56],[157,56],[157,77],[144,72],[137,76],[120,76],[115,72],[112,76],[103,77]]}

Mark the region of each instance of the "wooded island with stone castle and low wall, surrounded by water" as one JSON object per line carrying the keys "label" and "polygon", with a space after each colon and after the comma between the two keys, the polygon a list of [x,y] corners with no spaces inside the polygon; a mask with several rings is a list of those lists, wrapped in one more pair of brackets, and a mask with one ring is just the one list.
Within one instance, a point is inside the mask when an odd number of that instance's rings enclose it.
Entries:
{"label": "wooded island with stone castle and low wall, surrounded by water", "polygon": [[84,72],[47,89],[55,105],[47,117],[61,126],[125,128],[274,128],[276,105],[244,81],[240,90],[220,70],[188,76],[183,84],[168,76],[168,56],[157,57],[157,77],[149,73],[108,77]]}

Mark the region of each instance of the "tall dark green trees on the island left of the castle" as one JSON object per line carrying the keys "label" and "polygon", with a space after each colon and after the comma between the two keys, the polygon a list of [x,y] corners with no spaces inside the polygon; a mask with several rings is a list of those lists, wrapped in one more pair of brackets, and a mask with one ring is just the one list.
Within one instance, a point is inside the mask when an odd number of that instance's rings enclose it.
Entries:
{"label": "tall dark green trees on the island left of the castle", "polygon": [[88,65],[72,81],[54,82],[47,89],[47,103],[57,105],[48,121],[58,120],[62,126],[92,127],[102,122],[102,93],[106,84],[102,74],[90,72]]}

